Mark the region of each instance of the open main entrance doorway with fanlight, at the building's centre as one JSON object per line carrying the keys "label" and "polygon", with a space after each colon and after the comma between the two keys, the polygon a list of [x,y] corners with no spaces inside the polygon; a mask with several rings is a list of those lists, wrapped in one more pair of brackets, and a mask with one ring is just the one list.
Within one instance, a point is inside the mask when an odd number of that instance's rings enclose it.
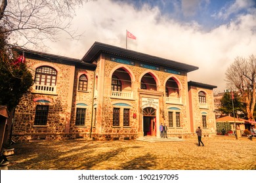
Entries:
{"label": "open main entrance doorway with fanlight, at the building's centre", "polygon": [[156,109],[143,108],[143,135],[156,136]]}

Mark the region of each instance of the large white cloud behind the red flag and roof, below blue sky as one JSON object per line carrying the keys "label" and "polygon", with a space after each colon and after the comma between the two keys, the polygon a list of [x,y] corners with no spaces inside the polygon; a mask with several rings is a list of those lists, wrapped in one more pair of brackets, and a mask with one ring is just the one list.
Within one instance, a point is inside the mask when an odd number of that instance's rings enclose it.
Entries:
{"label": "large white cloud behind the red flag and roof, below blue sky", "polygon": [[77,10],[74,27],[82,33],[78,41],[62,39],[49,42],[51,53],[82,58],[93,42],[103,42],[125,48],[125,30],[137,40],[128,39],[128,48],[200,67],[188,73],[188,80],[213,84],[225,89],[224,73],[236,56],[255,53],[256,21],[254,14],[245,14],[228,25],[209,32],[196,22],[181,24],[160,16],[158,8],[142,7],[112,1],[89,1]]}

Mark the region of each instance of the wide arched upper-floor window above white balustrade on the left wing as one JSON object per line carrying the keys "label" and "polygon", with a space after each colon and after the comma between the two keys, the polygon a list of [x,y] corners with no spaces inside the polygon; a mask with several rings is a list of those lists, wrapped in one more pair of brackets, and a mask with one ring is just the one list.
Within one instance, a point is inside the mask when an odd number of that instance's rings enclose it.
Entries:
{"label": "wide arched upper-floor window above white balustrade on the left wing", "polygon": [[35,69],[35,84],[55,86],[57,71],[53,67],[41,66]]}

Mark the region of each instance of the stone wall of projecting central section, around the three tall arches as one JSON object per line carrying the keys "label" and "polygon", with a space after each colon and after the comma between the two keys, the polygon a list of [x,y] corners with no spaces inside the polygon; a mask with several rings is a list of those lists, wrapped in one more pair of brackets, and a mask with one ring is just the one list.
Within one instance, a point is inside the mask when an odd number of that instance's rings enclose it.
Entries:
{"label": "stone wall of projecting central section, around the three tall arches", "polygon": [[[142,76],[148,72],[150,72],[153,76],[156,77],[156,82],[158,83],[158,93],[161,93],[160,97],[160,108],[165,110],[164,118],[161,114],[160,121],[166,122],[168,124],[168,116],[167,116],[167,108],[169,107],[179,107],[181,108],[181,127],[173,127],[168,129],[168,134],[180,137],[182,135],[185,135],[190,132],[189,128],[189,114],[188,114],[188,86],[187,86],[187,76],[186,73],[181,73],[181,75],[175,75],[170,73],[163,72],[163,67],[160,67],[160,71],[156,70],[150,70],[146,69],[144,67],[139,66],[138,61],[129,60],[135,62],[135,65],[128,65],[124,63],[117,63],[115,61],[111,61],[111,56],[104,55],[102,56],[104,58],[104,68],[101,67],[101,70],[96,69],[96,73],[104,73],[104,95],[102,96],[102,104],[98,104],[99,106],[102,105],[102,121],[98,121],[101,126],[101,131],[98,131],[97,133],[93,134],[93,137],[100,136],[100,139],[102,139],[103,136],[107,136],[106,138],[103,137],[103,139],[109,139],[110,137],[113,139],[114,137],[120,137],[123,139],[124,135],[127,135],[128,137],[137,137],[139,131],[139,124],[142,123],[142,116],[140,114],[141,108],[140,108],[140,79]],[[100,65],[98,63],[98,65]],[[114,97],[111,97],[111,79],[112,74],[116,69],[123,68],[125,71],[130,73],[131,75],[131,92],[133,92],[133,99],[115,99]],[[98,74],[100,75],[100,74]],[[177,80],[179,80],[181,84],[181,91],[180,95],[182,98],[182,105],[171,105],[165,103],[165,82],[168,78],[175,77]],[[152,93],[154,93],[152,91]],[[150,97],[150,92],[148,93],[148,97]],[[159,95],[159,94],[158,94]],[[131,105],[130,109],[130,126],[129,127],[113,127],[113,108],[115,107],[115,103],[129,103]],[[123,109],[123,107],[119,107]],[[159,110],[160,111],[160,110]],[[133,118],[133,114],[137,115],[137,118]],[[120,117],[122,118],[122,116]]]}

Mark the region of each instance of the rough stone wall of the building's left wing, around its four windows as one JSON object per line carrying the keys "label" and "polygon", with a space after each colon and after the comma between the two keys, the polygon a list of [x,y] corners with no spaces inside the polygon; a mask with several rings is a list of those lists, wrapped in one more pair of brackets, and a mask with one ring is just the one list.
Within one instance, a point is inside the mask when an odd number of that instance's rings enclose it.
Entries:
{"label": "rough stone wall of the building's left wing, around its four windows", "polygon": [[[16,107],[12,138],[14,141],[30,141],[32,139],[70,139],[87,137],[91,127],[91,104],[93,88],[93,71],[77,69],[72,65],[61,63],[27,59],[26,64],[32,69],[47,65],[56,69],[56,93],[45,94],[34,92],[34,86],[30,92],[22,97]],[[77,76],[86,73],[89,78],[89,92],[77,92]],[[85,95],[84,95],[85,94]],[[77,103],[87,105],[85,127],[75,127],[75,105]],[[49,105],[47,125],[34,125],[35,109],[37,105]],[[78,134],[78,135],[77,135]]]}

